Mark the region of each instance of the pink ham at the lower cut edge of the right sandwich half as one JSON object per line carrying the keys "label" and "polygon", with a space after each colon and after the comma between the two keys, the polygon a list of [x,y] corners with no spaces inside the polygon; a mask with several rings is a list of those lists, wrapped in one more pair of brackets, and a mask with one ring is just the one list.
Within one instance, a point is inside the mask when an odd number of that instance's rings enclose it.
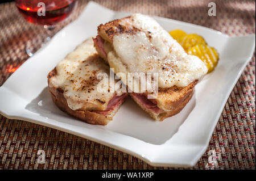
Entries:
{"label": "pink ham at the lower cut edge of the right sandwich half", "polygon": [[152,100],[147,99],[146,94],[140,94],[140,93],[134,93],[134,92],[130,94],[133,95],[134,99],[136,99],[137,102],[141,104],[141,106],[147,108],[148,110],[151,110],[152,112],[155,112],[155,113],[163,112],[163,110],[158,107],[154,99]]}

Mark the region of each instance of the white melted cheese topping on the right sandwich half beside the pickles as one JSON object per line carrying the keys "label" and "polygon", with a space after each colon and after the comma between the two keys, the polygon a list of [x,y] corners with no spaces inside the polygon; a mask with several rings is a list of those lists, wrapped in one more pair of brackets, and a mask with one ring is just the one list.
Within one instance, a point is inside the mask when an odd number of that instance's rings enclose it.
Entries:
{"label": "white melted cheese topping on the right sandwich half beside the pickles", "polygon": [[[114,52],[108,53],[110,67],[124,73],[158,73],[158,86],[162,88],[184,87],[207,73],[207,66],[198,57],[187,54],[149,16],[134,14],[129,22],[123,20],[120,24],[135,32],[122,32],[113,37]],[[125,69],[118,68],[121,66]]]}

